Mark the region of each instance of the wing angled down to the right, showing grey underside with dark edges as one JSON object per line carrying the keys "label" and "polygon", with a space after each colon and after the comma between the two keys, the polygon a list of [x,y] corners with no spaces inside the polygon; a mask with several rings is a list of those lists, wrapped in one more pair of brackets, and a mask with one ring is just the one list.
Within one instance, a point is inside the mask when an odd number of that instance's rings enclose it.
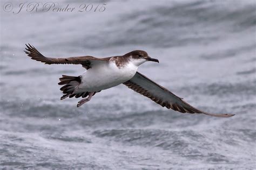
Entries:
{"label": "wing angled down to the right, showing grey underside with dark edges", "polygon": [[153,82],[145,75],[137,72],[131,80],[124,82],[125,86],[131,88],[139,94],[149,97],[152,101],[160,104],[162,107],[168,109],[173,109],[183,113],[190,114],[205,114],[215,117],[231,117],[231,114],[209,114],[207,112],[201,111],[197,108],[192,107],[192,105],[183,101],[182,98],[174,95],[171,91],[160,86],[159,84]]}

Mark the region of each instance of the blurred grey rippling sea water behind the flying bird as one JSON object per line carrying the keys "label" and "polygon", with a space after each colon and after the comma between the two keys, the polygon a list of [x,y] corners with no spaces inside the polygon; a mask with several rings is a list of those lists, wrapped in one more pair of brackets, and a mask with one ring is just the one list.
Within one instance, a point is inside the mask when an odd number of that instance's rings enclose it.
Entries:
{"label": "blurred grey rippling sea water behind the flying bird", "polygon": [[[6,2],[1,168],[256,167],[255,1],[57,1],[59,8],[75,7],[72,12],[43,12],[48,1],[40,1],[41,10],[19,13],[21,1]],[[83,4],[105,10],[79,12]],[[77,98],[59,100],[57,83],[84,68],[31,60],[25,43],[53,57],[145,50],[160,63],[144,63],[139,72],[200,109],[236,115],[181,114],[123,84],[77,108]]]}

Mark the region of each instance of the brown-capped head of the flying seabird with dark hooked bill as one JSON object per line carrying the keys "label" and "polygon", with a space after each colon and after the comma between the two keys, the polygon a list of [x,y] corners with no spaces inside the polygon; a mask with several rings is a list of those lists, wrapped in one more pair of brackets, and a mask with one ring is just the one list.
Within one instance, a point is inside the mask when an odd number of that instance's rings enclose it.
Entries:
{"label": "brown-capped head of the flying seabird with dark hooked bill", "polygon": [[142,63],[146,62],[146,61],[154,61],[154,62],[158,62],[158,59],[153,59],[151,58],[149,55],[147,55],[147,52],[142,51],[142,50],[136,50],[136,51],[132,51],[130,53],[125,54],[126,56],[130,57],[130,61],[136,65],[139,66]]}

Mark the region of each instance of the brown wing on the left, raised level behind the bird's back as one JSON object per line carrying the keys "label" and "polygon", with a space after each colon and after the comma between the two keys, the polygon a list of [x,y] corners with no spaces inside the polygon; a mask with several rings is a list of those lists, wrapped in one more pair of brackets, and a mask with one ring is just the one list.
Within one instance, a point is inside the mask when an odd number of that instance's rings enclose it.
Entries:
{"label": "brown wing on the left, raised level behind the bird's back", "polygon": [[69,58],[49,58],[37,51],[33,46],[26,45],[26,51],[24,51],[32,60],[37,60],[44,62],[45,64],[73,64],[73,65],[83,65],[84,68],[89,69],[92,65],[99,62],[107,62],[109,58],[96,58],[93,56],[73,56]]}

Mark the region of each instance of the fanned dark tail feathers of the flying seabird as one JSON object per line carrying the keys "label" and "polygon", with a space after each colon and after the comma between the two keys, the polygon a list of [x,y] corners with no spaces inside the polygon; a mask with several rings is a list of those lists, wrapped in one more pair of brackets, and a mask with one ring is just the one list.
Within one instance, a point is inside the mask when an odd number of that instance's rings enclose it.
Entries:
{"label": "fanned dark tail feathers of the flying seabird", "polygon": [[[78,94],[75,94],[75,89],[78,87],[78,85],[81,83],[80,76],[68,76],[68,75],[62,75],[62,77],[59,78],[60,82],[59,85],[64,85],[60,90],[63,91],[63,96],[60,98],[60,100],[63,100],[66,97],[73,97]],[[82,94],[83,95],[83,94]],[[84,94],[85,95],[85,94]],[[87,96],[87,95],[86,95]]]}

